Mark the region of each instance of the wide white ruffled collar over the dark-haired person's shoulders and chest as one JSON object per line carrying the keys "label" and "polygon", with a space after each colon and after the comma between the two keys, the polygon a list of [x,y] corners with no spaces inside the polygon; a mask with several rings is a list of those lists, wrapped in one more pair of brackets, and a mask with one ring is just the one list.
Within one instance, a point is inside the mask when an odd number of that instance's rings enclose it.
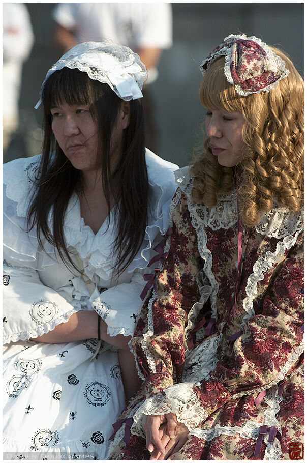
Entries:
{"label": "wide white ruffled collar over the dark-haired person's shoulders and chest", "polygon": [[[27,261],[27,266],[36,268],[38,243],[36,231],[33,229],[22,237],[19,227],[25,229],[25,218],[38,166],[40,155],[26,159],[16,159],[4,165],[4,216],[9,220],[10,229],[14,232],[4,235],[4,245],[10,248],[12,256],[21,263]],[[164,234],[169,226],[169,205],[175,192],[173,171],[178,168],[159,158],[146,149],[146,164],[149,179],[149,217],[145,230],[143,246],[130,264],[128,271],[144,269],[150,260],[150,250],[157,235]],[[51,216],[51,214],[50,214]],[[4,219],[4,220],[5,220]],[[16,228],[17,227],[17,230]],[[112,247],[110,237],[114,233],[114,214],[111,211],[111,221],[108,230],[107,220],[95,235],[93,230],[84,224],[80,216],[79,201],[73,194],[67,208],[64,232],[67,246],[77,250],[85,263],[85,273],[89,278],[94,273],[103,279],[109,279],[112,273]],[[48,243],[44,243],[45,250],[50,254],[52,250]],[[34,262],[33,262],[34,261]],[[44,265],[43,265],[44,266]],[[40,269],[42,270],[42,269]]]}

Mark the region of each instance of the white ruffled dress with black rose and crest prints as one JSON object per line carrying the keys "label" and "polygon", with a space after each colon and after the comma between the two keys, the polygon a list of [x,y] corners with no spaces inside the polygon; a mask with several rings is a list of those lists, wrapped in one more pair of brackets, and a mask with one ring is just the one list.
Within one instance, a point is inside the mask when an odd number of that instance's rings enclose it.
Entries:
{"label": "white ruffled dress with black rose and crest prints", "polygon": [[125,407],[116,349],[99,346],[96,339],[45,344],[29,338],[93,308],[111,336],[133,334],[143,274],[152,272],[146,267],[156,254],[153,247],[169,226],[177,166],[146,151],[148,225],[138,254],[119,280],[111,280],[114,214],[109,228],[105,221],[95,235],[80,216],[77,196],[71,197],[65,240],[94,283],[86,284],[48,242],[42,251],[35,230],[25,232],[39,161],[36,156],[4,165],[3,451],[6,459],[106,459],[112,423]]}

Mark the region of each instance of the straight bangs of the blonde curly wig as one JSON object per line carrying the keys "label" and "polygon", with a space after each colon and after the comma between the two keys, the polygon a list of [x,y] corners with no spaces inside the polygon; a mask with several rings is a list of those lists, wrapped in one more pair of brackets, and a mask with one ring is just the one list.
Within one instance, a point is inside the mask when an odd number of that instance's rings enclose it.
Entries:
{"label": "straight bangs of the blonde curly wig", "polygon": [[243,112],[243,101],[234,85],[227,82],[224,74],[225,58],[214,61],[200,84],[200,101],[205,108],[226,112]]}

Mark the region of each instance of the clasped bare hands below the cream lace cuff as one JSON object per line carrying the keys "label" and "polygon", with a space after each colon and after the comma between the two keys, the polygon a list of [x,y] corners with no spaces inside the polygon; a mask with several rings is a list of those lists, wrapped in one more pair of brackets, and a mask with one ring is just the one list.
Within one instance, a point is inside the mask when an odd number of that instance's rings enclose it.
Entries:
{"label": "clasped bare hands below the cream lace cuff", "polygon": [[165,415],[149,415],[144,430],[146,447],[151,453],[150,460],[166,460],[181,449],[188,439],[189,429],[177,422],[174,413]]}

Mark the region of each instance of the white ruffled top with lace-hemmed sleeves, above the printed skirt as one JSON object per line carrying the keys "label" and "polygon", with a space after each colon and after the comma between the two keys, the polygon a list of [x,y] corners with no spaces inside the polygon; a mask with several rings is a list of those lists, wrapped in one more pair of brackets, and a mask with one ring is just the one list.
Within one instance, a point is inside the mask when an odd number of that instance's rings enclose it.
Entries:
{"label": "white ruffled top with lace-hemmed sleeves, above the printed skirt", "polygon": [[[95,235],[80,215],[77,195],[72,195],[65,214],[64,235],[69,250],[78,255],[84,273],[95,285],[91,292],[80,275],[74,275],[65,267],[50,243],[45,241],[44,250],[40,248],[35,229],[26,232],[26,214],[39,161],[40,156],[35,156],[4,165],[4,273],[10,278],[7,291],[14,285],[20,291],[18,301],[13,303],[12,299],[8,304],[3,341],[16,342],[40,336],[67,321],[73,312],[91,308],[107,323],[108,334],[132,336],[145,285],[142,274],[151,272],[144,269],[155,255],[152,248],[169,226],[169,205],[176,188],[173,170],[177,166],[146,151],[148,225],[143,245],[118,279],[112,279],[114,210],[109,227],[106,220]],[[52,213],[49,218],[52,220]],[[52,314],[47,316],[50,310]],[[39,316],[37,311],[40,311]]]}

